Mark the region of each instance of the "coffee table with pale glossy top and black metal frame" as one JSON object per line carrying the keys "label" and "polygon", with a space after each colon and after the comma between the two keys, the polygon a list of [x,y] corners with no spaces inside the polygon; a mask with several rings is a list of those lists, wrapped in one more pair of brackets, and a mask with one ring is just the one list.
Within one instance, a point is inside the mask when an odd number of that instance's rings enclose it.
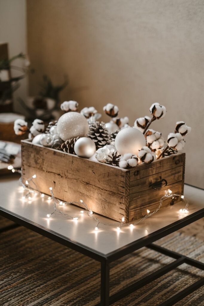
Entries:
{"label": "coffee table with pale glossy top and black metal frame", "polygon": [[[70,220],[57,212],[47,218],[46,215],[53,211],[52,200],[48,200],[46,196],[44,198],[36,196],[30,202],[22,200],[22,188],[15,176],[0,179],[0,194],[0,215],[101,263],[101,301],[96,306],[111,305],[182,263],[204,270],[204,263],[153,244],[154,241],[204,216],[204,191],[202,189],[185,185],[184,194],[190,202],[188,214],[182,215],[179,212],[180,208],[184,208],[184,202],[179,202],[158,211],[134,228],[127,226],[122,228],[120,232],[117,231],[115,225],[104,226],[101,224],[96,231],[96,222],[86,214],[81,214],[81,208],[74,205],[62,206],[61,209],[69,212],[70,215],[76,215],[78,220]],[[115,223],[102,216],[98,216],[98,218],[103,222]],[[142,247],[153,249],[175,260],[120,292],[109,296],[109,264]],[[204,285],[204,278],[159,306],[174,305],[202,285]]]}

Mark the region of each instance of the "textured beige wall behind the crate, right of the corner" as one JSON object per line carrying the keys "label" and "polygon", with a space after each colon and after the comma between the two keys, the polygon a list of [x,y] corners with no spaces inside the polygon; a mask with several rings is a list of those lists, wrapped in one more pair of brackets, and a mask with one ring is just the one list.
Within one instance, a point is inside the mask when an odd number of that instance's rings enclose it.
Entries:
{"label": "textured beige wall behind the crate, right of the corner", "polygon": [[[35,75],[57,82],[69,74],[62,100],[102,111],[108,102],[130,123],[166,106],[152,124],[167,136],[175,122],[192,127],[186,137],[186,179],[203,187],[204,1],[28,0],[28,52]],[[103,117],[105,121],[107,117]]]}

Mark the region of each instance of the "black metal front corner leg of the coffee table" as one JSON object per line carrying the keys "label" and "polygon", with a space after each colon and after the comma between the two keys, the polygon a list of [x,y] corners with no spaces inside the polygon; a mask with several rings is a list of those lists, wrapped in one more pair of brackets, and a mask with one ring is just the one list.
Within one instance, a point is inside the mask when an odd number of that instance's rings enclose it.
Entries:
{"label": "black metal front corner leg of the coffee table", "polygon": [[109,263],[101,263],[101,306],[109,306]]}

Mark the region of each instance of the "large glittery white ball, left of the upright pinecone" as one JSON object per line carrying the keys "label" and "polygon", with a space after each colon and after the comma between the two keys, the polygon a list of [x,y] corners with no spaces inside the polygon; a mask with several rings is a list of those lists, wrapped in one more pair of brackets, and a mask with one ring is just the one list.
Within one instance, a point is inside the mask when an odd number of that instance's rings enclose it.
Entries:
{"label": "large glittery white ball, left of the upright pinecone", "polygon": [[87,119],[77,112],[66,113],[57,122],[57,134],[64,141],[78,136],[86,136],[88,131]]}

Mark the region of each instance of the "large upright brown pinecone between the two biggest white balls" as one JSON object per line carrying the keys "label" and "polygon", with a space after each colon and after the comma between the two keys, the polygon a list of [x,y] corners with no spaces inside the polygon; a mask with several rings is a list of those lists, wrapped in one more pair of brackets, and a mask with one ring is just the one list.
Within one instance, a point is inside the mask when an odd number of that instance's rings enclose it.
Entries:
{"label": "large upright brown pinecone between the two biggest white balls", "polygon": [[109,133],[104,122],[95,122],[89,126],[88,137],[90,137],[96,145],[96,150],[104,147],[109,143]]}

